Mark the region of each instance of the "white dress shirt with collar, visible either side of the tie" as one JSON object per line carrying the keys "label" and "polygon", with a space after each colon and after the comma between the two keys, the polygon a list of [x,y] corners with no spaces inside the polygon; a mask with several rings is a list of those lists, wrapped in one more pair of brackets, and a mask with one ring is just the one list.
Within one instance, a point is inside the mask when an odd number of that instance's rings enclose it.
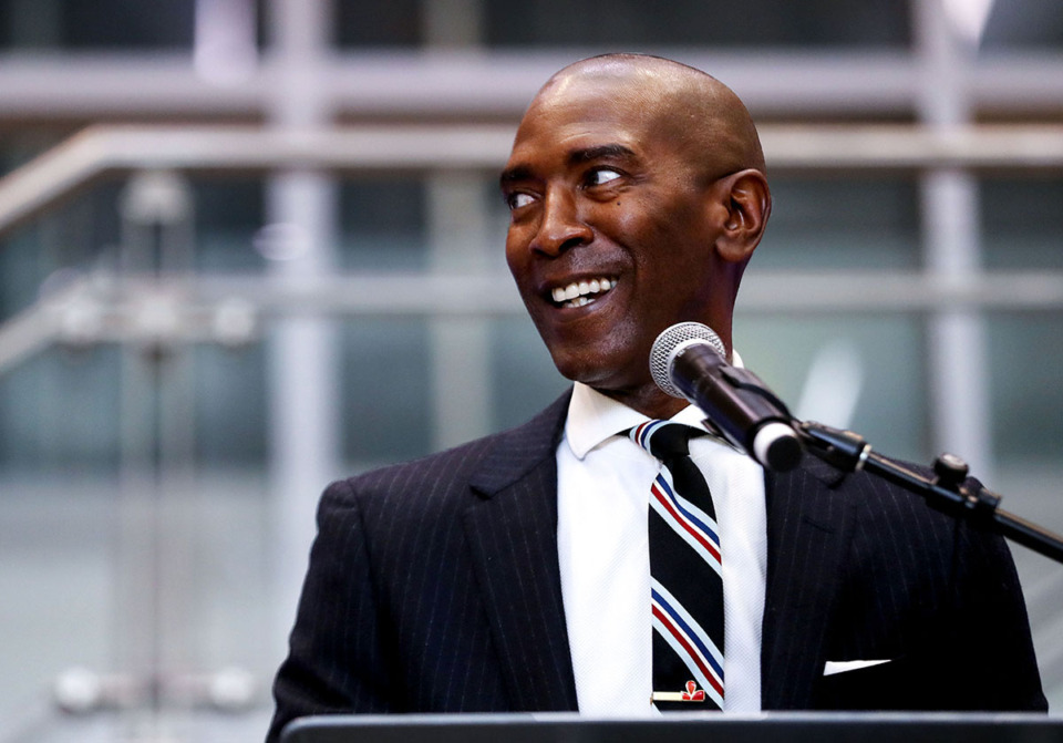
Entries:
{"label": "white dress shirt with collar, visible either side of the tie", "polygon": [[[688,406],[671,420],[699,426]],[[627,436],[648,420],[577,383],[557,447],[557,543],[579,710],[656,714],[647,518],[660,463]],[[712,492],[723,556],[724,711],[761,709],[761,622],[767,566],[764,471],[710,437],[690,442]],[[661,690],[659,690],[661,691]]]}

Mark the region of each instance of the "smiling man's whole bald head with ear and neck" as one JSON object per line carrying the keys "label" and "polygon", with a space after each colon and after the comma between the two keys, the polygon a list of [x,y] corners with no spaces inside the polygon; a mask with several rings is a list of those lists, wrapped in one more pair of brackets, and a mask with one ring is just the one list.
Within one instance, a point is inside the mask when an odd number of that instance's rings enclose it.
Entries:
{"label": "smiling man's whole bald head with ear and neck", "polygon": [[734,300],[771,211],[745,106],[693,68],[612,54],[554,75],[500,186],[506,260],[554,363],[651,417],[683,403],[649,373],[677,322],[730,349]]}

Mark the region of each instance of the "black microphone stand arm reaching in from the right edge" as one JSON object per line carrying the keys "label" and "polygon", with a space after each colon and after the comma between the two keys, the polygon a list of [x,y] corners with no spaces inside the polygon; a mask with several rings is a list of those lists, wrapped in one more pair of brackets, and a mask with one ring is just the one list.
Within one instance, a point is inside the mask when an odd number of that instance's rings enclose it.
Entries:
{"label": "black microphone stand arm reaching in from the right edge", "polygon": [[822,423],[794,421],[806,451],[842,472],[869,472],[922,496],[928,505],[953,518],[989,526],[1020,545],[1063,564],[1063,537],[999,508],[1001,496],[966,485],[969,467],[953,454],[933,463],[933,477],[904,467],[871,451],[863,436]]}

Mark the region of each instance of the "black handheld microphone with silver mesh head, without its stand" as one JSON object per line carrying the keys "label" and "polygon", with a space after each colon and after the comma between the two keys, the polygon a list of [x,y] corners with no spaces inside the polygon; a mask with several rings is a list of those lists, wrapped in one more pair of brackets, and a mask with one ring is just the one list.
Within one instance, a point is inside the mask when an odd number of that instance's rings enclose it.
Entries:
{"label": "black handheld microphone with silver mesh head, without its stand", "polygon": [[793,469],[804,453],[793,415],[756,374],[725,357],[709,326],[680,322],[653,341],[650,373],[663,392],[700,407],[724,438],[763,466]]}

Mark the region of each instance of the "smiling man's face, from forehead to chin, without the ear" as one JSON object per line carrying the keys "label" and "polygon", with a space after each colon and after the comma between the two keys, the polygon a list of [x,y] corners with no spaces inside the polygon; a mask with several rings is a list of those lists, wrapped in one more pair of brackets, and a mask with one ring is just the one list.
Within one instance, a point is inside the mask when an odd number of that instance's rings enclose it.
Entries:
{"label": "smiling man's face, from forehead to chin, without the ear", "polygon": [[565,376],[644,389],[657,336],[711,322],[711,186],[654,125],[667,112],[626,105],[608,83],[556,87],[525,115],[502,176],[506,259]]}

